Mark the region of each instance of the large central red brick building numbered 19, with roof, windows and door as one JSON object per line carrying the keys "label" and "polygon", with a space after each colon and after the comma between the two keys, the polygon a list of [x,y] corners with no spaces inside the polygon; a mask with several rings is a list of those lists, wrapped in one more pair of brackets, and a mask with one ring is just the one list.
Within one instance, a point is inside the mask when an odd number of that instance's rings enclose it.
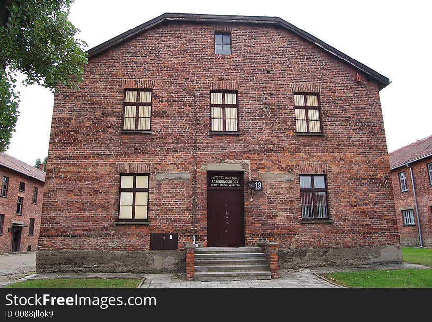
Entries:
{"label": "large central red brick building numbered 19, with roof, windows and door", "polygon": [[55,92],[38,271],[184,270],[188,242],[401,261],[388,78],[277,17],[168,13],[88,54]]}

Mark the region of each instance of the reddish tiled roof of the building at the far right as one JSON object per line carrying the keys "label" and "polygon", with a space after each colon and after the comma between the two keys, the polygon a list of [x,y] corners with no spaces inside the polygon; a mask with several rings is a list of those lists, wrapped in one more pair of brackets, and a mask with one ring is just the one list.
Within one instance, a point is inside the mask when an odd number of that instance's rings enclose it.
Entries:
{"label": "reddish tiled roof of the building at the far right", "polygon": [[432,156],[432,135],[389,153],[390,169],[393,170],[430,156]]}

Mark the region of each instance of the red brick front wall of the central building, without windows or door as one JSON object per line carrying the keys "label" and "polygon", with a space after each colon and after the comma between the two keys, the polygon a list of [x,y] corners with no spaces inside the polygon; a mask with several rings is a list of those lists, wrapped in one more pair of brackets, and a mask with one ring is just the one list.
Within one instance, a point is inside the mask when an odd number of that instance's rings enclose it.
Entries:
{"label": "red brick front wall of the central building, without windows or door", "polygon": [[[232,54],[214,54],[214,30]],[[91,57],[56,89],[41,251],[149,251],[150,233],[207,245],[207,171],[244,171],[245,245],[395,247],[379,85],[286,29],[166,22]],[[125,88],[153,90],[151,131],[122,131]],[[210,91],[238,91],[238,135],[213,135]],[[293,93],[321,102],[323,136],[296,135]],[[149,173],[148,225],[118,225],[120,173]],[[300,174],[325,174],[330,219],[301,219]],[[399,259],[394,259],[399,261]]]}

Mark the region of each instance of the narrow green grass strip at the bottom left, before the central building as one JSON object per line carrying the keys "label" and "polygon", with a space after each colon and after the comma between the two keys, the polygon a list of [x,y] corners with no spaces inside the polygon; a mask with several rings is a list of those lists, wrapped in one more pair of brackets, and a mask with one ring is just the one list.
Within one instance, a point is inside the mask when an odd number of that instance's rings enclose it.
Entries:
{"label": "narrow green grass strip at the bottom left, before the central building", "polygon": [[141,279],[55,279],[27,280],[8,288],[136,288]]}

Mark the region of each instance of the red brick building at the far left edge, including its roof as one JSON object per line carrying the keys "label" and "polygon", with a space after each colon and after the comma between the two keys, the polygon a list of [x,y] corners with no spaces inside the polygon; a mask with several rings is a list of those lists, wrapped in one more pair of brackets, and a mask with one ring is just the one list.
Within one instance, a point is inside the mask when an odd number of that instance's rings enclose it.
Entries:
{"label": "red brick building at the far left edge, including its roof", "polygon": [[0,153],[0,179],[0,253],[36,251],[45,173]]}

